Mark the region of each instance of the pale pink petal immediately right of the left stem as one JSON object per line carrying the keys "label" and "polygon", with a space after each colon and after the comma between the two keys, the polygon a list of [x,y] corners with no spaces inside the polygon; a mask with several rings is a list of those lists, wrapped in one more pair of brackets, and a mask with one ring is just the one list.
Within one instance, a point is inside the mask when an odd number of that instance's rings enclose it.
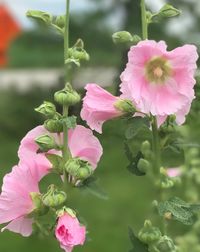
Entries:
{"label": "pale pink petal immediately right of the left stem", "polygon": [[94,169],[103,153],[102,146],[92,131],[81,125],[69,130],[68,146],[72,157],[88,161]]}

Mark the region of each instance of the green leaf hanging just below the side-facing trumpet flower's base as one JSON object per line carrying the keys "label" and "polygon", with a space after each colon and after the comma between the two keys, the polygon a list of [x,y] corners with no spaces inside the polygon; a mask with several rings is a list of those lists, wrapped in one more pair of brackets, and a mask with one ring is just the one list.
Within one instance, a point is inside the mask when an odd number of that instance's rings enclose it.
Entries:
{"label": "green leaf hanging just below the side-facing trumpet flower's base", "polygon": [[134,138],[142,128],[149,127],[149,120],[147,117],[132,117],[128,120],[128,128],[125,132],[126,139]]}

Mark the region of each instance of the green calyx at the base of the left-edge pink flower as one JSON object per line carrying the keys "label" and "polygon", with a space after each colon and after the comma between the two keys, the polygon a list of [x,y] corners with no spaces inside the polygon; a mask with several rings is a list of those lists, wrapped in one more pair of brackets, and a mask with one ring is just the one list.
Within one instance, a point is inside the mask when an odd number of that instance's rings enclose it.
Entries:
{"label": "green calyx at the base of the left-edge pink flower", "polygon": [[41,216],[48,212],[49,208],[43,204],[41,194],[36,193],[36,192],[31,192],[30,197],[34,205],[34,209],[30,213],[30,216],[34,216],[34,215]]}

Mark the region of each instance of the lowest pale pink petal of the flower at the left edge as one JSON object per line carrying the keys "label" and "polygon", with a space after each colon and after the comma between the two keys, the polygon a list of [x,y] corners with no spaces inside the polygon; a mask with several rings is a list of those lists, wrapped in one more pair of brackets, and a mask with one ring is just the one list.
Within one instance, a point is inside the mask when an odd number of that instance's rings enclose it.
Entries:
{"label": "lowest pale pink petal of the flower at the left edge", "polygon": [[8,229],[12,232],[19,233],[24,237],[28,237],[32,234],[32,224],[33,219],[26,217],[19,217],[11,221],[7,226],[1,229],[3,232],[5,229]]}

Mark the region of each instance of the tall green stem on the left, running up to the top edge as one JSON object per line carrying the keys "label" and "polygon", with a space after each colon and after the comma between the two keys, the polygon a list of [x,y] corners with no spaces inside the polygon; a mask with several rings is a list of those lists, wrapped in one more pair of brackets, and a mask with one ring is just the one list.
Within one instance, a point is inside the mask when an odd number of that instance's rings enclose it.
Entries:
{"label": "tall green stem on the left, running up to the top edge", "polygon": [[[64,32],[64,64],[69,57],[69,8],[70,0],[66,0],[66,16],[65,16],[65,32]],[[65,64],[66,65],[66,64]],[[65,79],[66,82],[69,79],[69,68],[65,67]],[[68,116],[68,106],[63,105],[63,117],[64,119]],[[63,158],[65,161],[68,159],[68,128],[67,124],[63,124]]]}

